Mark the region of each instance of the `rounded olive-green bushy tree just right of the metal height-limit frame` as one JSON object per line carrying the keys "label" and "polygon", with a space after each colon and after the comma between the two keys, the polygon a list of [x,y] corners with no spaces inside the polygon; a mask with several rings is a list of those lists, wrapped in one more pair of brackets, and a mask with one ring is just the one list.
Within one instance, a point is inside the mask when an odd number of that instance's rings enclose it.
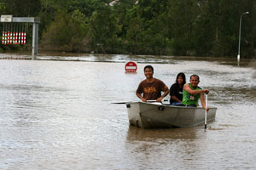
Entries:
{"label": "rounded olive-green bushy tree just right of the metal height-limit frame", "polygon": [[65,10],[58,11],[55,20],[44,31],[42,42],[44,48],[53,47],[61,51],[83,50],[84,45],[88,46],[88,42],[84,41],[87,33],[84,19],[84,14],[79,10],[73,11],[71,17]]}

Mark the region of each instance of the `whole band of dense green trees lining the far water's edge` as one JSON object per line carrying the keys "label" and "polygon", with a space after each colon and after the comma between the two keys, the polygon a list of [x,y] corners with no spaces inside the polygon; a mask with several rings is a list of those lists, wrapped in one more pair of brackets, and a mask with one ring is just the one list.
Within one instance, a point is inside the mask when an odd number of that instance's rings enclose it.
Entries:
{"label": "whole band of dense green trees lining the far water's edge", "polygon": [[108,54],[236,56],[247,11],[241,55],[255,57],[256,0],[0,0],[0,14],[40,17],[40,48]]}

